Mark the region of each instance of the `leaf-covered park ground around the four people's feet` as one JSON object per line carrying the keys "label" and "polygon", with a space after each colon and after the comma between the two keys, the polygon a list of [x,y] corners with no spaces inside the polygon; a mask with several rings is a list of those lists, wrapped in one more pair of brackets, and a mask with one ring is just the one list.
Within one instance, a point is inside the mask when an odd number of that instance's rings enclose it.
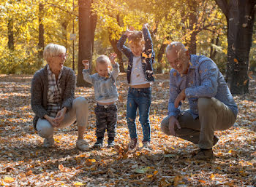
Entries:
{"label": "leaf-covered park ground around the four people's feet", "polygon": [[[31,77],[0,75],[0,186],[256,186],[253,79],[249,94],[235,96],[239,107],[236,124],[230,130],[216,132],[219,137],[214,146],[216,159],[206,162],[193,159],[196,145],[160,130],[167,114],[167,74],[157,75],[152,89],[153,150],[133,152],[126,151],[128,87],[124,74],[117,80],[120,98],[116,147],[86,152],[75,148],[78,134],[75,124],[56,132],[53,148],[42,147],[42,138],[32,127]],[[89,129],[84,137],[93,146],[96,141],[93,88],[77,88],[75,95],[89,100]],[[141,142],[140,124],[138,132]]]}

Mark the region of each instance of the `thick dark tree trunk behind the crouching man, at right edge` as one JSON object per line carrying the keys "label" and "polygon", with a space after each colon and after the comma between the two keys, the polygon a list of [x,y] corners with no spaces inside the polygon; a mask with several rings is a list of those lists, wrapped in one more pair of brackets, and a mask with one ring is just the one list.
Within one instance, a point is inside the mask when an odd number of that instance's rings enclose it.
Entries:
{"label": "thick dark tree trunk behind the crouching man, at right edge", "polygon": [[226,81],[233,94],[249,92],[249,50],[255,21],[254,0],[215,0],[227,18]]}

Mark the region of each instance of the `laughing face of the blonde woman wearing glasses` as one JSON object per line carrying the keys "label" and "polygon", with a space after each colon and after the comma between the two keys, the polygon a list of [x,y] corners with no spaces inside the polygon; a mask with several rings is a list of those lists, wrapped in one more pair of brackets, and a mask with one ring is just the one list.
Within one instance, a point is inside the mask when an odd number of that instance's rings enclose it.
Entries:
{"label": "laughing face of the blonde woman wearing glasses", "polygon": [[57,73],[61,71],[61,68],[63,68],[64,62],[67,60],[67,54],[66,53],[60,53],[59,55],[55,55],[53,57],[50,57],[48,60],[48,65],[50,66],[50,70],[53,71],[53,73]]}

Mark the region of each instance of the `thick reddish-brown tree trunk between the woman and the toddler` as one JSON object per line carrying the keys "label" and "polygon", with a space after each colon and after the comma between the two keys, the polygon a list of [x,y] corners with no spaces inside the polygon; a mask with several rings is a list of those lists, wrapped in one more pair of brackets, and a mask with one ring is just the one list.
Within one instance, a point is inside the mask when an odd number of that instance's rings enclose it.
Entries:
{"label": "thick reddish-brown tree trunk between the woman and the toddler", "polygon": [[90,62],[94,48],[94,32],[97,23],[97,15],[91,12],[91,0],[78,0],[79,6],[79,44],[78,44],[78,80],[77,86],[91,86],[83,80],[82,60],[87,59]]}

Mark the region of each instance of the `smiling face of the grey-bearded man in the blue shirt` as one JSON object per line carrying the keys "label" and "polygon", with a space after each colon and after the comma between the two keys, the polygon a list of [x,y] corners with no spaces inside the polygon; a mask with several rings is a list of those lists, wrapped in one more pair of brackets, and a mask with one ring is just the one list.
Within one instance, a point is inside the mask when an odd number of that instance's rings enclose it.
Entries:
{"label": "smiling face of the grey-bearded man in the blue shirt", "polygon": [[166,54],[170,66],[180,74],[187,74],[189,68],[189,53],[182,50],[172,49]]}

